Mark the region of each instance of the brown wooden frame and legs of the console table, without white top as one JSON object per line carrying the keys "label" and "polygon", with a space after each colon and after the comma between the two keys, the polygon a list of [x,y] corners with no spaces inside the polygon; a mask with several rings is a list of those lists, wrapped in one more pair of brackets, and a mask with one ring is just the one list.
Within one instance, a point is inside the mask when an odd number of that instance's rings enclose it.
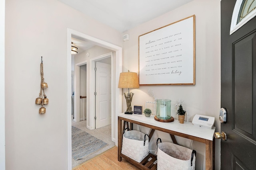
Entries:
{"label": "brown wooden frame and legs of the console table, without white top", "polygon": [[[122,124],[122,121],[124,122],[123,124]],[[130,123],[130,126],[129,126],[129,123]],[[120,117],[120,116],[118,116],[118,161],[122,161],[122,158],[125,158],[130,163],[136,165],[140,169],[149,169],[149,168],[146,168],[145,166],[143,166],[142,164],[140,164],[139,162],[136,162],[135,160],[133,160],[133,159],[129,158],[128,156],[121,153],[123,131],[124,131],[125,127],[130,127],[130,130],[132,130],[133,129],[133,123],[135,123],[137,125],[142,125],[144,127],[148,127],[148,128],[151,129],[150,135],[149,135],[149,141],[150,141],[154,131],[158,130],[158,131],[169,133],[172,137],[173,143],[176,143],[176,144],[177,144],[177,141],[176,141],[174,135],[179,136],[179,137],[184,137],[184,138],[187,138],[187,139],[191,139],[191,140],[194,140],[194,141],[198,141],[200,143],[205,143],[206,144],[206,168],[205,169],[206,170],[214,170],[214,148],[215,148],[214,138],[213,138],[212,141],[208,140],[208,139],[202,139],[200,137],[195,137],[195,136],[192,136],[192,135],[187,135],[187,134],[179,133],[179,132],[176,132],[176,131],[171,131],[169,129],[164,129],[164,128],[161,128],[161,127],[149,125],[149,124],[142,123],[142,122],[139,122],[139,121],[134,121],[134,120],[127,119],[127,118],[124,118],[124,117]]]}

